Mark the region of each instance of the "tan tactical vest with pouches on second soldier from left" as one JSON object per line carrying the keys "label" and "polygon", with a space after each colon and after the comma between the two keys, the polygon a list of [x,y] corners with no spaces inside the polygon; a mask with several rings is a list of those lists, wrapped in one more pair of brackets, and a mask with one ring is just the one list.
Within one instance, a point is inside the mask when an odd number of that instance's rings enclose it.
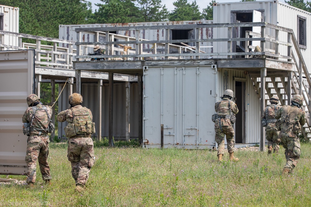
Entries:
{"label": "tan tactical vest with pouches on second soldier from left", "polygon": [[91,120],[90,110],[86,107],[70,109],[73,120],[64,129],[66,137],[89,136],[95,133],[95,123]]}

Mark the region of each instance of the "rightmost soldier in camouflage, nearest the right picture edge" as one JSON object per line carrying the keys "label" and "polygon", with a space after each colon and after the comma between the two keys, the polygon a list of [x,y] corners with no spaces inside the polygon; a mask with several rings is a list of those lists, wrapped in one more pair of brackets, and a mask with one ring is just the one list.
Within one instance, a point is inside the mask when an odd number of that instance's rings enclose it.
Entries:
{"label": "rightmost soldier in camouflage, nearest the right picture edge", "polygon": [[291,105],[285,105],[276,111],[276,126],[281,130],[279,137],[285,148],[286,165],[282,174],[290,173],[298,163],[301,155],[300,142],[297,134],[301,131],[301,126],[305,124],[304,110],[300,109],[304,103],[301,95],[295,95],[291,99]]}

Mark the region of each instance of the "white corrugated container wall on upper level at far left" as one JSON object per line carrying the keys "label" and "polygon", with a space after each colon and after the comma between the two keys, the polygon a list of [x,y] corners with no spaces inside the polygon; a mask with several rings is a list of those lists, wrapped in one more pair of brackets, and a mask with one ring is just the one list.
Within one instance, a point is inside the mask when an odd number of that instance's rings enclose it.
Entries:
{"label": "white corrugated container wall on upper level at far left", "polygon": [[[19,8],[0,5],[0,13],[3,14],[3,30],[19,33]],[[18,46],[18,38],[6,35],[4,44]]]}

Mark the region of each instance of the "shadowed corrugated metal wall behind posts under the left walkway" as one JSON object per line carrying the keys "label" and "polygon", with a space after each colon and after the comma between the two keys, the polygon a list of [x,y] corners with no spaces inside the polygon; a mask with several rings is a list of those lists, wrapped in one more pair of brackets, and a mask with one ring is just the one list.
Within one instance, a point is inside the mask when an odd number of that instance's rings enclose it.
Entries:
{"label": "shadowed corrugated metal wall behind posts under the left walkway", "polygon": [[[63,88],[63,84],[59,84],[59,91]],[[73,92],[76,91],[76,85],[73,85]],[[83,97],[82,106],[91,109],[93,115],[93,122],[95,122],[96,133],[98,132],[99,106],[97,105],[98,93],[96,83],[83,83],[81,95]],[[102,94],[102,137],[108,137],[109,133],[109,83],[103,84]],[[138,84],[130,84],[130,137],[138,137]],[[58,112],[66,110],[69,107],[68,97],[69,88],[66,84],[61,96],[58,99]],[[123,139],[125,137],[125,83],[114,83],[114,109],[113,109],[113,136],[115,138]],[[64,127],[67,122],[58,122],[58,137],[65,138]]]}

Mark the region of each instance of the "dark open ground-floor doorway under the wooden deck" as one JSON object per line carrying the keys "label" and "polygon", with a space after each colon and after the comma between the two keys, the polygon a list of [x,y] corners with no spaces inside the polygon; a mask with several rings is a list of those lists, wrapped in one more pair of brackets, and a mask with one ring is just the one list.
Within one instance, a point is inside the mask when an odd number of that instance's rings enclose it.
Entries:
{"label": "dark open ground-floor doorway under the wooden deck", "polygon": [[245,82],[235,81],[235,103],[239,113],[235,121],[235,142],[245,143],[245,106],[244,106]]}

